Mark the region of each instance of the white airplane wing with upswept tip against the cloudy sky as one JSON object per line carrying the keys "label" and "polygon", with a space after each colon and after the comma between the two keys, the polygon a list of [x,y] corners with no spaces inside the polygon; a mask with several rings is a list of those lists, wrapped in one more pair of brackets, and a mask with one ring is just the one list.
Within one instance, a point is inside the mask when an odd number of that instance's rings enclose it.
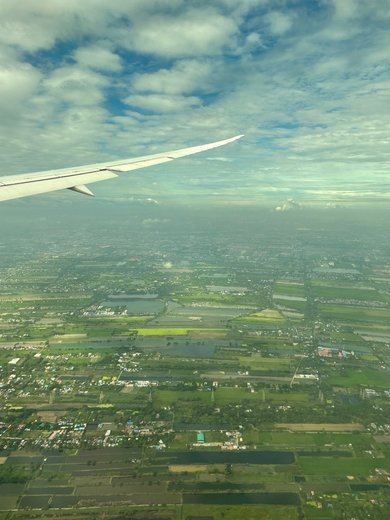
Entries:
{"label": "white airplane wing with upswept tip against the cloudy sky", "polygon": [[39,193],[64,188],[93,196],[93,193],[86,187],[86,184],[112,179],[122,172],[147,168],[148,166],[173,161],[174,159],[185,157],[186,155],[211,150],[212,148],[217,148],[218,146],[236,141],[241,137],[243,136],[237,135],[215,143],[183,148],[181,150],[174,150],[173,152],[123,159],[121,161],[106,161],[104,163],[64,168],[61,170],[0,176],[0,201],[27,197],[29,195],[38,195]]}

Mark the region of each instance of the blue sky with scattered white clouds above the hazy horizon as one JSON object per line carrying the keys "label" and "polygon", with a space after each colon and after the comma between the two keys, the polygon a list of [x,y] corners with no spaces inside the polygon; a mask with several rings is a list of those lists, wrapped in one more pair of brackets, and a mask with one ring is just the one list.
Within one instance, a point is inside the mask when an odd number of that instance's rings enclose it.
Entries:
{"label": "blue sky with scattered white clouds above the hazy horizon", "polygon": [[282,209],[388,198],[389,26],[388,0],[2,0],[0,174],[244,133],[94,191]]}

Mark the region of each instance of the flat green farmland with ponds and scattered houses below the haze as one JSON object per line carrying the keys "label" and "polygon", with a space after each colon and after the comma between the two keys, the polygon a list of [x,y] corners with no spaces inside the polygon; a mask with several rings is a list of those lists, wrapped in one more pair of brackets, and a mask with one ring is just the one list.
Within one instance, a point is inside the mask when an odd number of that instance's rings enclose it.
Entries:
{"label": "flat green farmland with ponds and scattered houses below the haze", "polygon": [[386,248],[136,222],[0,259],[0,518],[385,518]]}

